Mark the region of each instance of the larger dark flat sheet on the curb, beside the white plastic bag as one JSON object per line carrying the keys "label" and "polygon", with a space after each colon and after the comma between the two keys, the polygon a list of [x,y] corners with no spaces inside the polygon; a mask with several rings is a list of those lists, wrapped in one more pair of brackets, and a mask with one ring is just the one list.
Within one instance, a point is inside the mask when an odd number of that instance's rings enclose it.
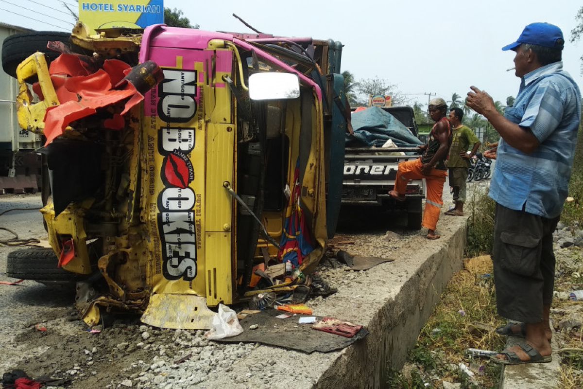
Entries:
{"label": "larger dark flat sheet on the curb, beside the white plastic bag", "polygon": [[[243,333],[236,337],[217,339],[216,342],[257,342],[312,353],[342,350],[368,335],[366,328],[361,329],[353,338],[328,334],[312,329],[309,324],[298,324],[300,317],[310,315],[296,315],[285,319],[275,317],[281,313],[282,311],[273,309],[245,317],[240,321]],[[318,320],[320,319],[321,317],[318,317]],[[253,324],[258,324],[259,327],[250,330],[249,327]]]}

